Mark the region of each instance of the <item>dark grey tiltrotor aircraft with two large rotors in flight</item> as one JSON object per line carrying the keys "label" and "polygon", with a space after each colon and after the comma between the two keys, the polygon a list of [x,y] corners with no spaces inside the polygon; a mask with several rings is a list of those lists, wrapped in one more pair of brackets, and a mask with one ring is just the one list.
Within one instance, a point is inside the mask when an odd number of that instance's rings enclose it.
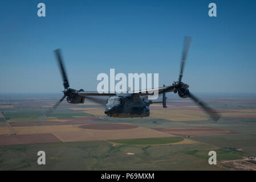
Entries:
{"label": "dark grey tiltrotor aircraft with two large rotors in flight", "polygon": [[59,104],[67,97],[67,102],[70,104],[82,104],[84,103],[85,98],[88,100],[97,102],[102,104],[102,102],[98,98],[92,98],[92,96],[100,97],[100,96],[108,96],[107,101],[105,101],[105,114],[109,117],[117,117],[117,118],[133,118],[133,117],[148,117],[150,114],[149,106],[155,103],[161,103],[162,107],[166,107],[166,92],[174,92],[178,93],[178,96],[181,98],[191,98],[197,105],[201,106],[201,108],[206,111],[210,115],[210,117],[214,121],[218,121],[220,119],[220,114],[218,114],[215,110],[211,109],[205,102],[201,101],[199,98],[194,96],[189,91],[189,85],[184,84],[181,81],[184,65],[186,61],[186,56],[188,53],[189,46],[192,42],[192,37],[185,36],[184,39],[184,48],[181,57],[181,68],[180,75],[178,77],[178,81],[174,81],[170,86],[162,86],[157,88],[159,94],[162,94],[161,102],[154,102],[152,100],[145,100],[144,97],[148,95],[152,95],[153,91],[156,89],[150,90],[139,90],[132,93],[98,93],[98,92],[88,92],[83,89],[76,90],[70,88],[70,84],[68,82],[67,74],[64,69],[62,56],[60,54],[60,49],[56,49],[55,55],[59,63],[60,72],[62,74],[64,93],[63,97],[51,108],[48,112],[52,112]]}

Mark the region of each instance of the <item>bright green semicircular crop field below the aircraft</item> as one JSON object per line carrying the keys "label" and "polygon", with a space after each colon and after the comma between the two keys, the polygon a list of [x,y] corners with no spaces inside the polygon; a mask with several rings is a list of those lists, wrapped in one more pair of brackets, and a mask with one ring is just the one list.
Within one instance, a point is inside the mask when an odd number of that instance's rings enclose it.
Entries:
{"label": "bright green semicircular crop field below the aircraft", "polygon": [[163,138],[136,138],[136,139],[119,139],[108,140],[113,143],[134,144],[134,145],[152,145],[152,144],[168,144],[181,142],[182,137],[163,137]]}

